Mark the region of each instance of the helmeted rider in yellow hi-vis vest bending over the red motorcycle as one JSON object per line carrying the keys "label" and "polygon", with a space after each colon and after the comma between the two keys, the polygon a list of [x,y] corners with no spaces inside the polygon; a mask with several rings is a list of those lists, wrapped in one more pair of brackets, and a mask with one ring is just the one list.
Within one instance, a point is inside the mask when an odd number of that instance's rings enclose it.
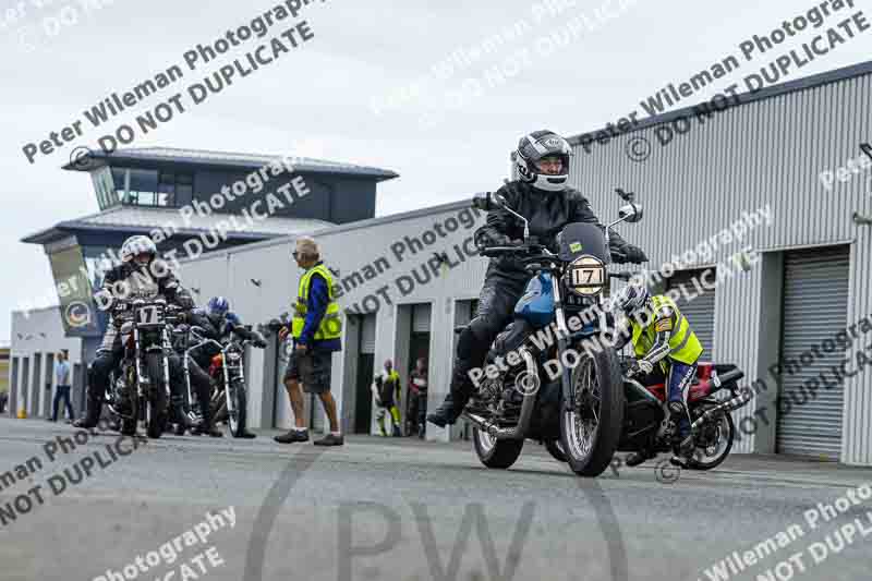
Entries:
{"label": "helmeted rider in yellow hi-vis vest bending over the red motorcycle", "polygon": [[[702,344],[675,302],[662,294],[652,296],[643,283],[631,281],[616,296],[615,305],[630,320],[630,340],[637,358],[627,375],[641,378],[655,368],[663,375],[669,420],[675,422],[675,453],[679,460],[686,458],[693,451],[688,394],[697,377]],[[627,457],[626,463],[638,465],[654,456],[653,450],[633,452]]]}

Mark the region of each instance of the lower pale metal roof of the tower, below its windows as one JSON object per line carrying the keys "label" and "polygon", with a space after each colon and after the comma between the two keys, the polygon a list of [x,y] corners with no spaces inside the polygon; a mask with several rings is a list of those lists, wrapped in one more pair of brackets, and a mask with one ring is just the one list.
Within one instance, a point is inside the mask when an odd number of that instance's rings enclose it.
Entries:
{"label": "lower pale metal roof of the tower, below its windows", "polygon": [[197,235],[217,229],[221,222],[228,223],[231,218],[235,219],[240,229],[237,230],[235,225],[231,222],[228,230],[230,239],[263,240],[335,226],[334,222],[326,220],[277,217],[257,220],[253,225],[249,225],[242,216],[235,214],[216,213],[210,216],[195,214],[190,218],[183,218],[178,208],[117,206],[90,216],[64,220],[48,230],[22,239],[22,242],[45,244],[59,237],[69,235],[71,230],[152,232],[162,228],[171,230],[177,235]]}

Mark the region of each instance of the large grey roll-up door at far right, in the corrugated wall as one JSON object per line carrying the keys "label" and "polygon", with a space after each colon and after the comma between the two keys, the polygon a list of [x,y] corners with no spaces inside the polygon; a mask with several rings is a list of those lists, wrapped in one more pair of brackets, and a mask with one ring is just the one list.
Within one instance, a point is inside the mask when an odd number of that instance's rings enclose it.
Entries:
{"label": "large grey roll-up door at far right, in the corrugated wall", "polygon": [[813,399],[803,397],[807,391],[802,385],[821,373],[833,385],[829,367],[845,359],[845,351],[826,353],[819,349],[821,356],[815,355],[810,364],[802,364],[801,355],[845,329],[848,262],[847,246],[790,252],[785,256],[782,362],[785,367],[790,363],[796,365],[794,374],[782,375],[778,392],[783,402],[778,412],[777,450],[782,453],[838,459],[844,385],[839,382],[831,389],[818,389]]}

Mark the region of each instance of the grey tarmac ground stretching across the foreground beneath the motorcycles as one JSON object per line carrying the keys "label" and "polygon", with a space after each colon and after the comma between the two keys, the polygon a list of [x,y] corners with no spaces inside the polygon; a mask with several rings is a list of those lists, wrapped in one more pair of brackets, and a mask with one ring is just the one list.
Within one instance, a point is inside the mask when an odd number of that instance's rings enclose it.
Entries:
{"label": "grey tarmac ground stretching across the foreground beneath the motorcycles", "polygon": [[[844,512],[835,504],[872,483],[871,469],[734,456],[708,473],[664,477],[665,469],[650,462],[582,480],[534,443],[511,470],[489,471],[470,443],[352,436],[342,448],[323,449],[281,446],[270,432],[255,440],[167,435],[134,449],[107,433],[64,453],[58,437],[74,433],[63,424],[0,420],[0,579],[869,574],[872,521],[863,519],[872,499],[849,503]],[[34,458],[41,468],[31,472]],[[85,458],[94,458],[90,476],[75,468]],[[31,499],[26,511],[22,496]],[[835,516],[824,522],[828,515],[819,515],[812,528],[807,511],[819,503],[834,505]],[[231,510],[232,526],[227,517],[215,524]],[[214,526],[201,541],[196,528],[205,533],[209,518]],[[870,537],[861,528],[834,554],[851,522],[867,523]],[[828,554],[810,548],[815,543]],[[174,550],[161,552],[168,544]]]}

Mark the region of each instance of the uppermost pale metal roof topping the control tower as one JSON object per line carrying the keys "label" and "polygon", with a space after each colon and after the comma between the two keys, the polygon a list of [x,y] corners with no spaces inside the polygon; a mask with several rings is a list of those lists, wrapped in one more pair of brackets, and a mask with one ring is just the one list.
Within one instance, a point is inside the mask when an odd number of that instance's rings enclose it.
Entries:
{"label": "uppermost pale metal roof topping the control tower", "polygon": [[[359,166],[342,161],[329,161],[311,157],[288,156],[296,171],[312,173],[339,173],[346,175],[360,175],[375,178],[376,181],[398,178],[399,173],[372,166]],[[193,164],[198,166],[220,166],[257,169],[271,162],[281,162],[284,158],[278,155],[239,154],[228,152],[209,152],[205,149],[182,149],[177,147],[132,147],[117,149],[111,154],[102,150],[92,150],[87,156],[71,161],[63,169],[74,171],[89,171],[94,165],[87,159],[118,160],[118,161],[171,161],[177,164]]]}

